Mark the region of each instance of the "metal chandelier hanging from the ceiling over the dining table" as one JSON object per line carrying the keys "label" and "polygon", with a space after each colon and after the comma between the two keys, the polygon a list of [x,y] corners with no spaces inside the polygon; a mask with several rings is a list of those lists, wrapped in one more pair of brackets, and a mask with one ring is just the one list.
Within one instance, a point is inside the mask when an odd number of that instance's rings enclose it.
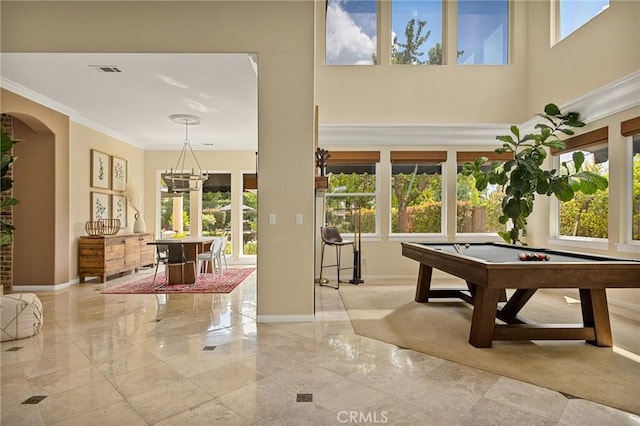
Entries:
{"label": "metal chandelier hanging from the ceiling over the dining table", "polygon": [[[171,192],[199,191],[202,187],[202,182],[208,179],[208,175],[202,171],[202,167],[200,167],[200,163],[191,148],[191,143],[189,142],[189,126],[200,124],[200,117],[188,114],[173,114],[169,116],[169,119],[174,123],[184,124],[185,137],[176,167],[165,173],[164,179],[168,181],[167,184],[170,186]],[[187,155],[189,154],[191,154],[193,163],[197,166],[197,169],[192,167],[191,171],[185,167]]]}

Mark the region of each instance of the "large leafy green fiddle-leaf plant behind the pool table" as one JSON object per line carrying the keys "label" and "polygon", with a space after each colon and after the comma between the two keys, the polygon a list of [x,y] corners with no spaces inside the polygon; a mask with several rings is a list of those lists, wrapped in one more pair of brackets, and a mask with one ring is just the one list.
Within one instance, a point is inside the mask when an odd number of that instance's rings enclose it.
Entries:
{"label": "large leafy green fiddle-leaf plant behind the pool table", "polygon": [[583,127],[580,114],[563,114],[555,104],[547,104],[544,113],[536,114],[545,121],[535,126],[535,132],[521,136],[517,126],[511,126],[511,135],[496,136],[502,146],[496,153],[511,153],[510,159],[493,161],[487,167],[486,157],[476,158],[463,166],[462,174],[473,176],[480,191],[489,184],[502,187],[502,215],[500,223],[511,224],[511,229],[498,232],[507,243],[525,244],[520,236],[526,236],[527,218],[533,212],[536,194],[551,196],[560,201],[570,201],[576,192],[594,194],[608,186],[605,177],[583,169],[584,154],[573,153],[573,166],[562,162],[559,169],[542,167],[547,158],[547,149],[564,149],[560,134],[573,135],[572,128]]}

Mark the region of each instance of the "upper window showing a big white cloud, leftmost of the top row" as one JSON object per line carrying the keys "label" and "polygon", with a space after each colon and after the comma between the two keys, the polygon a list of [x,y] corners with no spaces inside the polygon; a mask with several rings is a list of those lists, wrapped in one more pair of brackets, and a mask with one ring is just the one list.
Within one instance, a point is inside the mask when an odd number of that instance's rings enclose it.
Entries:
{"label": "upper window showing a big white cloud, leftmost of the top row", "polygon": [[327,0],[327,65],[373,65],[377,53],[375,0]]}

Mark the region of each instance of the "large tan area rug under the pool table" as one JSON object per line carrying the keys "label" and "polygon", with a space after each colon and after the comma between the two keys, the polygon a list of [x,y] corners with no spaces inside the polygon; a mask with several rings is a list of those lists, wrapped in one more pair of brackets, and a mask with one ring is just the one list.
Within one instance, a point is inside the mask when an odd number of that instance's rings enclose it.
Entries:
{"label": "large tan area rug under the pool table", "polygon": [[[367,283],[341,286],[339,291],[356,334],[640,414],[640,322],[635,319],[611,315],[614,345],[636,350],[626,355],[566,340],[496,341],[492,348],[479,349],[468,343],[472,310],[465,303],[417,303],[415,285],[406,284]],[[542,295],[551,302],[538,302],[536,297],[522,311],[523,317],[580,322],[579,303],[558,294]]]}

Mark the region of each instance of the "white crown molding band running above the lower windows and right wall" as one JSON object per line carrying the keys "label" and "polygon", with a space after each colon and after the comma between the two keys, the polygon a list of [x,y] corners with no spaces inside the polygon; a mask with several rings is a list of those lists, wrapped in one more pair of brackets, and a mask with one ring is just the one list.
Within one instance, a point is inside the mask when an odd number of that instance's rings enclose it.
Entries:
{"label": "white crown molding band running above the lower windows and right wall", "polygon": [[[640,105],[640,71],[609,83],[561,105],[563,111],[579,111],[585,123]],[[519,125],[531,132],[539,122],[532,118]],[[323,148],[375,146],[491,145],[496,135],[510,133],[511,124],[328,124],[320,125]]]}

